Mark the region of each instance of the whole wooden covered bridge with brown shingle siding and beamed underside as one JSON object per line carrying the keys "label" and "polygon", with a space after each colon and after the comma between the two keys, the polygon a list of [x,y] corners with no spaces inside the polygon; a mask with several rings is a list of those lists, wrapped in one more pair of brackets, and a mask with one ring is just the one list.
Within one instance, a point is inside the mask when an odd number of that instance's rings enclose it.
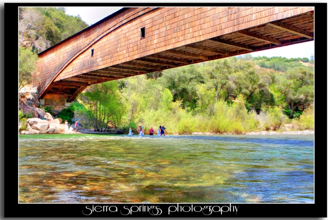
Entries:
{"label": "whole wooden covered bridge with brown shingle siding and beamed underside", "polygon": [[33,86],[71,102],[91,84],[310,40],[313,7],[123,8],[41,52]]}

